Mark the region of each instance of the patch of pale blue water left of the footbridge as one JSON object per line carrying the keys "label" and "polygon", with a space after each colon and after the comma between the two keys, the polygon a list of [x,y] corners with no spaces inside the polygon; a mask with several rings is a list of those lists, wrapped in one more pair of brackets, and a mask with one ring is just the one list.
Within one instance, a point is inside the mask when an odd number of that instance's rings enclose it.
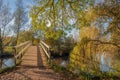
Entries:
{"label": "patch of pale blue water left of the footbridge", "polygon": [[13,66],[15,66],[14,58],[6,58],[2,60],[2,69],[7,67],[13,67]]}

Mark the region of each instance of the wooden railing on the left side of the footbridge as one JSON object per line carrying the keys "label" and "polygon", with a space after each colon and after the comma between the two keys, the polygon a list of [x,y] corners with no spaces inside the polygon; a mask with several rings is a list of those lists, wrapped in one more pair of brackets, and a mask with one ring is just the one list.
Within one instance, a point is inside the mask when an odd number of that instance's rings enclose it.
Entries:
{"label": "wooden railing on the left side of the footbridge", "polygon": [[17,60],[21,60],[22,56],[24,55],[25,51],[28,49],[28,47],[32,45],[31,41],[26,41],[20,45],[14,46],[14,58],[15,63],[17,64]]}

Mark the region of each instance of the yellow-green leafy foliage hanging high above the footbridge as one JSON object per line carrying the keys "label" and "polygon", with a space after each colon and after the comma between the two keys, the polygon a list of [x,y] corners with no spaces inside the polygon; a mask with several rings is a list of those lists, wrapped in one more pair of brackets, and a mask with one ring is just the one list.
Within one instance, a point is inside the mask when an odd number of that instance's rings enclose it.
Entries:
{"label": "yellow-green leafy foliage hanging high above the footbridge", "polygon": [[51,44],[66,36],[66,30],[71,30],[69,18],[72,18],[68,3],[64,0],[39,1],[31,9],[32,26],[40,30],[44,39]]}

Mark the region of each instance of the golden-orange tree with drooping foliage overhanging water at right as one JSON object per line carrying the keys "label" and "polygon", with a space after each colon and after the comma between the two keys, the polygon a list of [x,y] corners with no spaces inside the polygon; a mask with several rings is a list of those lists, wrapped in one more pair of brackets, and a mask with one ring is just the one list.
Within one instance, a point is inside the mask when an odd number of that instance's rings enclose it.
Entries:
{"label": "golden-orange tree with drooping foliage overhanging water at right", "polygon": [[[118,0],[104,0],[80,11],[82,14],[79,15],[82,16],[77,18],[80,21],[80,40],[70,54],[72,69],[78,68],[78,70],[87,71],[90,74],[92,71],[100,73],[101,53],[108,55],[108,58],[118,56],[120,53],[119,11]],[[96,56],[99,57],[99,60]],[[114,62],[114,60],[112,61]],[[117,64],[119,65],[119,63]],[[118,66],[108,67],[119,70]]]}

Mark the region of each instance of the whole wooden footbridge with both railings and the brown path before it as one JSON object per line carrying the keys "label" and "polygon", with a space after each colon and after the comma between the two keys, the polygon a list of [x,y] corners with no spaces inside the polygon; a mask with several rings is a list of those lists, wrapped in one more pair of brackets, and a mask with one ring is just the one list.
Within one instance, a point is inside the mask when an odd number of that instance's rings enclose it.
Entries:
{"label": "whole wooden footbridge with both railings and the brown path before it", "polygon": [[33,46],[30,41],[14,47],[16,68],[0,74],[0,80],[61,80],[48,65],[49,46],[43,41]]}

